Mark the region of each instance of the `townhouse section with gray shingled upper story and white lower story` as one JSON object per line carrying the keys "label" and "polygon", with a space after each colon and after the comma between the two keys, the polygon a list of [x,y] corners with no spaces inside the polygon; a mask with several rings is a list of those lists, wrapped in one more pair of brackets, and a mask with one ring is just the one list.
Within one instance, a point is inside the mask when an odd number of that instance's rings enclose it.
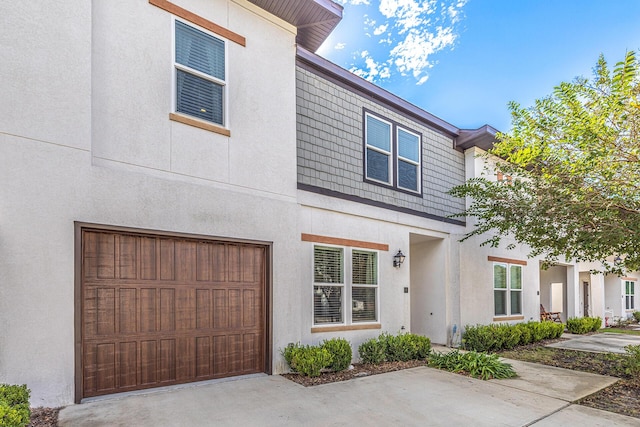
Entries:
{"label": "townhouse section with gray shingled upper story and white lower story", "polygon": [[[465,181],[464,149],[493,142],[489,128],[458,129],[303,47],[297,96],[305,341],[343,336],[357,348],[383,330],[452,344],[463,321],[490,322],[490,301],[488,317],[461,305],[466,266],[491,269],[459,243],[467,227],[452,215],[465,201],[447,193]],[[537,275],[536,265],[532,295]]]}

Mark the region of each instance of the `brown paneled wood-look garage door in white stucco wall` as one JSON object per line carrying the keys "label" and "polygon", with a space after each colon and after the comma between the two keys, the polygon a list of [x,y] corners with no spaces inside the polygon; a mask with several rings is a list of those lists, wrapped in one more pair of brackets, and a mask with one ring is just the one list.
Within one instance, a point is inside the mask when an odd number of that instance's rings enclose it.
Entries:
{"label": "brown paneled wood-look garage door in white stucco wall", "polygon": [[81,397],[265,372],[266,246],[81,239]]}

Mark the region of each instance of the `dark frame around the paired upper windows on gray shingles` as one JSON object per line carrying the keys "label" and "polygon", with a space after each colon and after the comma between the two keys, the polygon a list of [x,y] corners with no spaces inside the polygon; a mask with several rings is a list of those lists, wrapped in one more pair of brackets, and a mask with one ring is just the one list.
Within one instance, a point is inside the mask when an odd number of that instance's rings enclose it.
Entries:
{"label": "dark frame around the paired upper windows on gray shingles", "polygon": [[[391,151],[390,151],[390,162],[391,162],[391,179],[390,183],[385,183],[382,181],[378,181],[375,179],[368,178],[367,174],[367,116],[371,116],[374,119],[387,122],[391,125]],[[419,165],[418,165],[418,191],[412,191],[399,186],[398,183],[398,162],[400,161],[398,156],[398,130],[403,130],[405,132],[414,134],[418,137],[418,153],[419,153]],[[424,195],[424,183],[423,183],[423,165],[424,165],[424,153],[423,153],[423,135],[421,132],[412,129],[409,126],[405,126],[401,123],[398,123],[395,120],[392,120],[388,117],[385,117],[382,114],[376,113],[367,108],[362,109],[362,176],[363,181],[368,184],[373,184],[379,187],[388,188],[391,190],[395,190],[401,193],[410,194],[415,197],[422,198]]]}

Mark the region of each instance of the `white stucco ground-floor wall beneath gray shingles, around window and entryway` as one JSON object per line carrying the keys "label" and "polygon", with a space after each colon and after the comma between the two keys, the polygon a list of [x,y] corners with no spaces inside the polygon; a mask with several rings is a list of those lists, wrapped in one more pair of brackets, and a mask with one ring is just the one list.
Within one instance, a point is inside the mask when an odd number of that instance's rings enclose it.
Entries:
{"label": "white stucco ground-floor wall beneath gray shingles, around window and entryway", "polygon": [[[300,286],[307,289],[302,294],[301,305],[307,309],[302,312],[299,338],[295,336],[298,332],[297,328],[286,332],[291,337],[289,342],[301,340],[305,343],[319,343],[324,339],[343,337],[351,342],[356,360],[358,346],[369,338],[377,337],[381,332],[391,334],[414,332],[429,336],[433,342],[446,343],[447,330],[450,329],[449,323],[457,321],[451,320],[452,315],[447,313],[446,293],[448,290],[457,289],[458,286],[455,272],[458,264],[456,260],[451,260],[450,244],[454,243],[451,242],[450,235],[452,232],[459,233],[460,226],[305,191],[299,192],[298,200],[301,204],[299,215],[301,233],[387,244],[389,250],[378,253],[381,329],[311,333],[313,243],[300,242],[299,252],[303,254],[301,259],[306,260],[306,263],[303,262],[299,266],[303,278]],[[429,250],[422,248],[420,244],[415,244],[415,242],[432,239],[443,242],[431,251],[434,253],[428,253]],[[398,249],[406,255],[406,260],[402,267],[394,268],[393,255]],[[438,280],[437,283],[433,283],[433,288],[430,288],[434,289],[433,298],[427,298],[429,302],[425,300],[425,306],[422,307],[416,304],[414,298],[425,297],[425,288],[421,286],[421,282],[428,277],[422,277],[420,273],[429,265],[437,268]],[[432,273],[426,274],[428,276]],[[404,292],[405,287],[408,288],[408,293]],[[432,326],[432,329],[419,326],[414,328],[413,311],[417,308],[426,311],[428,304],[431,304],[434,310],[437,307],[438,316],[446,321],[443,320],[437,326]],[[458,308],[457,304],[453,307]]]}

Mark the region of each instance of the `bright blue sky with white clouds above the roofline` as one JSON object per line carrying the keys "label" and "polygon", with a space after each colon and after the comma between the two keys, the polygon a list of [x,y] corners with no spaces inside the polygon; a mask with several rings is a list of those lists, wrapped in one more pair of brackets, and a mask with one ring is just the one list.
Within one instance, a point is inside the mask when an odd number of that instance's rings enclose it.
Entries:
{"label": "bright blue sky with white clouds above the roofline", "polygon": [[640,0],[336,0],[318,54],[447,122],[508,131],[507,103],[640,50]]}

